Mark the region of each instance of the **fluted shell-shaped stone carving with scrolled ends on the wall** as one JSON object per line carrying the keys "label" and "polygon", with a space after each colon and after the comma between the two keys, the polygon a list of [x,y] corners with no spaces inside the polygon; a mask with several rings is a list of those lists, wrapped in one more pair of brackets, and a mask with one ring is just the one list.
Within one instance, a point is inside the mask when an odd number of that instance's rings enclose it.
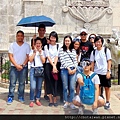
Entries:
{"label": "fluted shell-shaped stone carving with scrolled ends on the wall", "polygon": [[85,28],[90,27],[91,22],[99,20],[106,13],[112,14],[109,0],[67,0],[62,10],[63,12],[69,11],[74,18],[85,22]]}

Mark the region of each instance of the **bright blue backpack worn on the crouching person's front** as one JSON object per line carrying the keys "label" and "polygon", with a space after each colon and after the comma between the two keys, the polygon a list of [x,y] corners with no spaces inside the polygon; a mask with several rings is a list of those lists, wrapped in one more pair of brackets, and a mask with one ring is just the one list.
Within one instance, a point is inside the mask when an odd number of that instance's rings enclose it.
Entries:
{"label": "bright blue backpack worn on the crouching person's front", "polygon": [[92,78],[96,75],[93,73],[91,76],[83,76],[84,86],[80,86],[80,99],[83,104],[92,105],[95,101],[95,85],[92,82]]}

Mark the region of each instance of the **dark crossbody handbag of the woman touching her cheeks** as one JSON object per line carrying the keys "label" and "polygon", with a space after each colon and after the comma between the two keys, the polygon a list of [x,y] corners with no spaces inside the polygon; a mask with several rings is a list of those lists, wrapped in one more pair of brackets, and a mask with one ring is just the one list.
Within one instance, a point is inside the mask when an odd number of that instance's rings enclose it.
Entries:
{"label": "dark crossbody handbag of the woman touching her cheeks", "polygon": [[[35,66],[35,60],[34,60],[34,66]],[[44,77],[44,68],[34,67],[34,76],[35,77]]]}

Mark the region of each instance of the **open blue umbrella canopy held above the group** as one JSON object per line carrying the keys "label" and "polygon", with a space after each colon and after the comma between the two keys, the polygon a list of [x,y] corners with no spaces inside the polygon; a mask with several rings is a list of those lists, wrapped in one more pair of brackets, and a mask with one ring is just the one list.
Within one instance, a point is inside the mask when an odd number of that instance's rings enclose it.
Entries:
{"label": "open blue umbrella canopy held above the group", "polygon": [[44,24],[46,27],[52,27],[55,22],[44,15],[41,16],[29,16],[22,18],[17,26],[23,26],[23,27],[38,27],[40,24]]}

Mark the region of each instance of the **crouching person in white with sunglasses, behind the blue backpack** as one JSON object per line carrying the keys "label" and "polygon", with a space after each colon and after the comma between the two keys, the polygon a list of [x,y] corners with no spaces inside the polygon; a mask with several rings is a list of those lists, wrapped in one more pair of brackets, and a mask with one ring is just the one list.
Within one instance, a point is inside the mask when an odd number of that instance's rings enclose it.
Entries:
{"label": "crouching person in white with sunglasses, behind the blue backpack", "polygon": [[[93,72],[90,70],[91,69],[91,62],[89,59],[84,59],[81,63],[84,63],[84,64],[81,64],[82,67],[83,67],[83,74],[85,76],[91,76],[93,74]],[[95,99],[94,99],[94,103],[92,105],[92,110],[93,110],[93,114],[97,114],[97,111],[98,111],[98,107],[101,107],[104,105],[104,99],[99,96],[99,84],[100,84],[100,80],[99,80],[99,77],[98,75],[96,74],[95,76],[93,76],[93,78],[91,79],[92,82],[94,83],[95,85]],[[85,83],[84,83],[84,79],[83,79],[83,76],[82,74],[78,73],[77,74],[77,81],[78,81],[78,84],[80,86],[83,86]],[[81,94],[81,92],[80,92]],[[80,99],[80,95],[76,95],[74,98],[73,98],[73,104],[75,106],[78,106],[79,107],[79,111],[78,111],[78,114],[83,114],[84,113],[84,106],[83,106],[83,103]]]}

